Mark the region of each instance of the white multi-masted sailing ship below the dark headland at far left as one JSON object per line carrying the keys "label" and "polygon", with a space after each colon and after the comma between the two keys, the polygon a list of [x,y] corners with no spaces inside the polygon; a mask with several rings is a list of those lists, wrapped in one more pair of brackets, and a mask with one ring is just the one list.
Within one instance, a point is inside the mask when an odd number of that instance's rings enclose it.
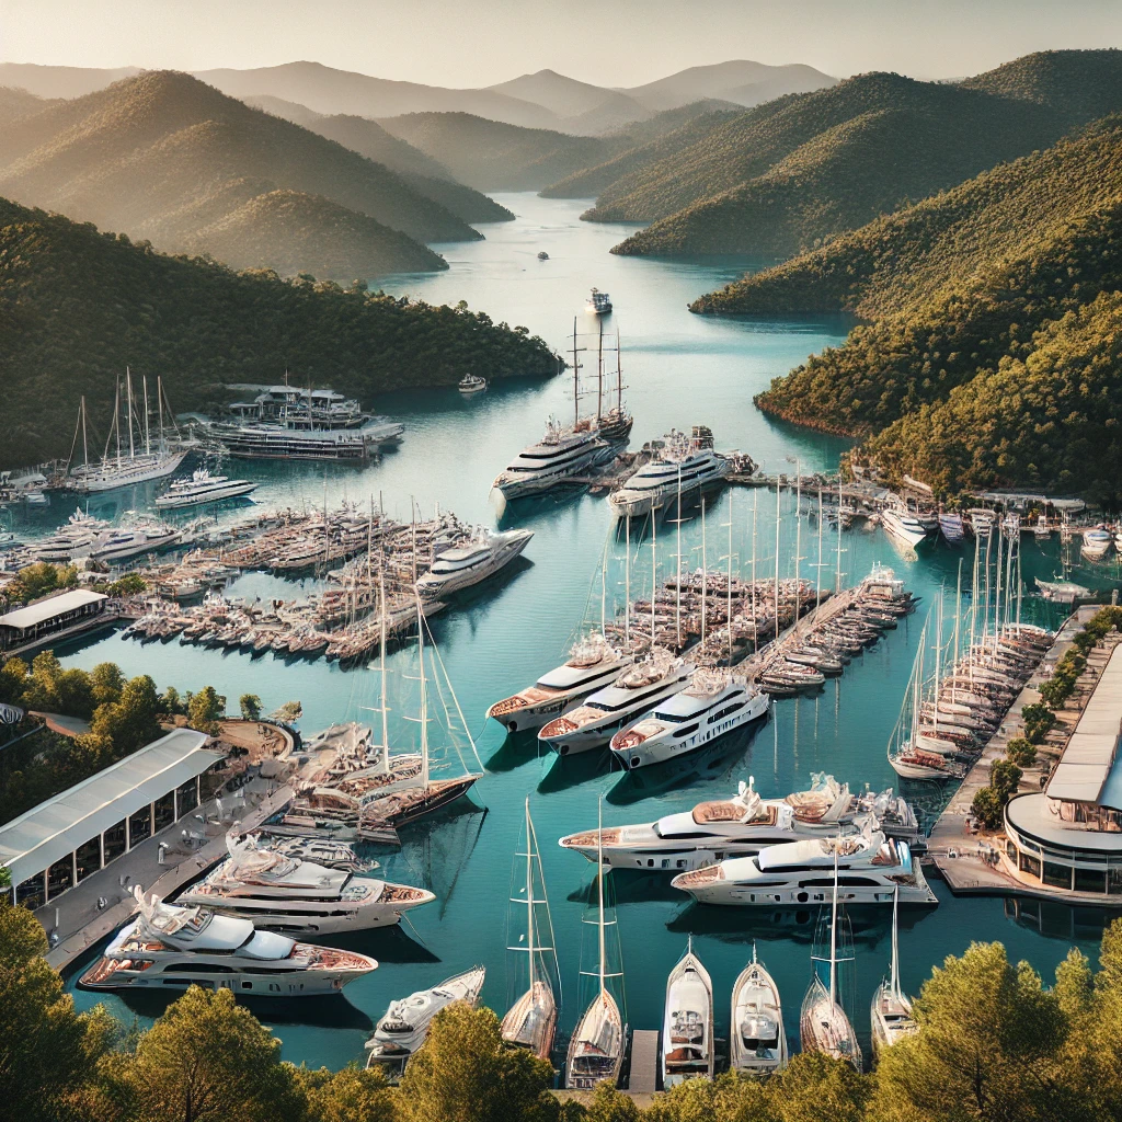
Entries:
{"label": "white multi-masted sailing ship below the dark headland at far left", "polygon": [[[113,419],[109,435],[105,438],[105,449],[100,463],[90,462],[90,451],[86,434],[85,397],[79,408],[79,429],[82,432],[83,462],[73,468],[66,477],[65,486],[70,490],[91,495],[99,491],[116,490],[119,487],[131,487],[134,484],[147,482],[149,479],[163,479],[175,472],[187,454],[185,448],[173,448],[164,432],[164,407],[167,401],[163,379],[156,379],[156,413],[159,432],[155,440],[150,430],[150,412],[148,407],[148,379],[144,378],[144,423],[134,413],[132,375],[126,367],[125,388],[127,397],[128,452],[126,454],[121,442],[121,380],[117,379],[117,392],[113,398]],[[171,407],[167,408],[172,425],[175,419]],[[144,441],[144,451],[136,447],[137,425]],[[178,435],[178,429],[175,430]],[[77,430],[74,433],[77,442]],[[109,454],[109,445],[116,440],[116,452]]]}

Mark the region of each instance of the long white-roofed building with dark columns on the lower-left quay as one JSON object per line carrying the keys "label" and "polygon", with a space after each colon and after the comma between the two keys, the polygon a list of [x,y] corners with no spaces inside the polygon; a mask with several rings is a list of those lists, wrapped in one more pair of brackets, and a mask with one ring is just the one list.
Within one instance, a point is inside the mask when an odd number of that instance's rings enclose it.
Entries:
{"label": "long white-roofed building with dark columns on the lower-left quay", "polygon": [[224,757],[176,728],[0,826],[0,890],[36,909],[173,825],[200,803],[200,779]]}

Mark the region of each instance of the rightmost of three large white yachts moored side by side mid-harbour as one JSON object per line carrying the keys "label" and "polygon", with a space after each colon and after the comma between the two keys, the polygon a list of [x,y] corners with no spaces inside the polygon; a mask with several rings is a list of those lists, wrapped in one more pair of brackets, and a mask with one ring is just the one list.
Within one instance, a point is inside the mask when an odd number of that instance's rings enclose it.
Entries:
{"label": "rightmost of three large white yachts moored side by side mid-harbour", "polygon": [[697,670],[684,690],[616,733],[611,752],[627,770],[665,763],[766,716],[770,705],[744,674]]}

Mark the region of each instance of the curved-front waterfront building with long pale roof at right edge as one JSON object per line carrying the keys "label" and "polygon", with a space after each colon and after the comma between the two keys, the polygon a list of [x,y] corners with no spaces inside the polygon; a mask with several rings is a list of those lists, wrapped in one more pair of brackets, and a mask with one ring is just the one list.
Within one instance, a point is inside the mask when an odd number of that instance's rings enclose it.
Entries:
{"label": "curved-front waterfront building with long pale roof at right edge", "polygon": [[1005,808],[1006,870],[1027,888],[1122,902],[1122,645],[1111,653],[1048,785]]}

